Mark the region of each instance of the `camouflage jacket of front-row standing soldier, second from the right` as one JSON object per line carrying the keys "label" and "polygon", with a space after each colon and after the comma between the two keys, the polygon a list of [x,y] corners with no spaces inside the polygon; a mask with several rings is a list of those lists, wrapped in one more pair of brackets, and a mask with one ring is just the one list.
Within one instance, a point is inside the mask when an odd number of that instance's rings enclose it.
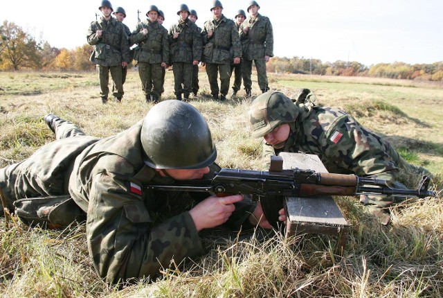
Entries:
{"label": "camouflage jacket of front-row standing soldier, second from the right", "polygon": [[[213,35],[208,38],[208,31],[213,30]],[[240,43],[237,26],[232,19],[222,15],[221,19],[210,19],[204,24],[201,31],[204,50],[203,61],[206,63],[230,64],[235,57],[242,57],[242,44]]]}

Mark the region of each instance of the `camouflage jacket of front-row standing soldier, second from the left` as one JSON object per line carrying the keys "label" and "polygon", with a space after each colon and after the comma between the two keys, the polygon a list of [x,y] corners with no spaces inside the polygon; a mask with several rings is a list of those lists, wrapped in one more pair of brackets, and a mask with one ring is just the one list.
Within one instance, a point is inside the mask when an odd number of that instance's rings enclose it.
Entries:
{"label": "camouflage jacket of front-row standing soldier, second from the left", "polygon": [[[147,35],[143,35],[143,28],[147,29]],[[169,64],[168,30],[161,26],[158,21],[145,19],[137,24],[136,30],[132,31],[132,44],[138,44],[141,48],[138,62]]]}

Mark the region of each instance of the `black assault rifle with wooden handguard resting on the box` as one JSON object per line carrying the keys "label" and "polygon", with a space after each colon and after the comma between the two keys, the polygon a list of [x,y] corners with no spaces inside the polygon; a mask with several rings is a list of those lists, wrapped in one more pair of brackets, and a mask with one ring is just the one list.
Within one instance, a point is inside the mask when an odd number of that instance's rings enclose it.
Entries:
{"label": "black assault rifle with wooden handguard resting on the box", "polygon": [[[170,185],[148,185],[148,189],[161,191],[190,191],[215,193],[218,196],[251,194],[260,198],[269,223],[278,225],[278,211],[283,208],[284,197],[311,197],[315,195],[395,195],[406,197],[435,197],[428,191],[431,178],[423,176],[417,189],[392,189],[386,180],[313,170],[239,170],[221,168],[212,179],[181,180]],[[279,227],[280,226],[280,227]]]}

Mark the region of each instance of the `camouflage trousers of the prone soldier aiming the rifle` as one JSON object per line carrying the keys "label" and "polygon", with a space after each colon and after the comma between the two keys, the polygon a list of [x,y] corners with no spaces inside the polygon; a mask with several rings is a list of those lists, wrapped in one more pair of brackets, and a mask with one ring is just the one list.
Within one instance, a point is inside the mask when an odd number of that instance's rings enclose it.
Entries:
{"label": "camouflage trousers of the prone soldier aiming the rifle", "polygon": [[[77,125],[62,119],[53,122],[55,139],[39,148],[18,164],[0,169],[0,188],[6,207],[15,209],[14,202],[25,198],[69,195],[71,167],[80,152],[98,141],[87,137]],[[3,208],[0,211],[3,215]]]}

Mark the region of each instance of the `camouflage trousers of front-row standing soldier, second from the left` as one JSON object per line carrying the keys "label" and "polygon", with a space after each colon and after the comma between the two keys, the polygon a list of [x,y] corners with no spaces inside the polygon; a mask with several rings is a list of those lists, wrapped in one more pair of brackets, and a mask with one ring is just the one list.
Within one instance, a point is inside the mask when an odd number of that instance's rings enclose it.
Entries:
{"label": "camouflage trousers of front-row standing soldier, second from the left", "polygon": [[141,89],[146,95],[160,97],[163,80],[161,63],[138,62],[138,76],[141,80]]}

